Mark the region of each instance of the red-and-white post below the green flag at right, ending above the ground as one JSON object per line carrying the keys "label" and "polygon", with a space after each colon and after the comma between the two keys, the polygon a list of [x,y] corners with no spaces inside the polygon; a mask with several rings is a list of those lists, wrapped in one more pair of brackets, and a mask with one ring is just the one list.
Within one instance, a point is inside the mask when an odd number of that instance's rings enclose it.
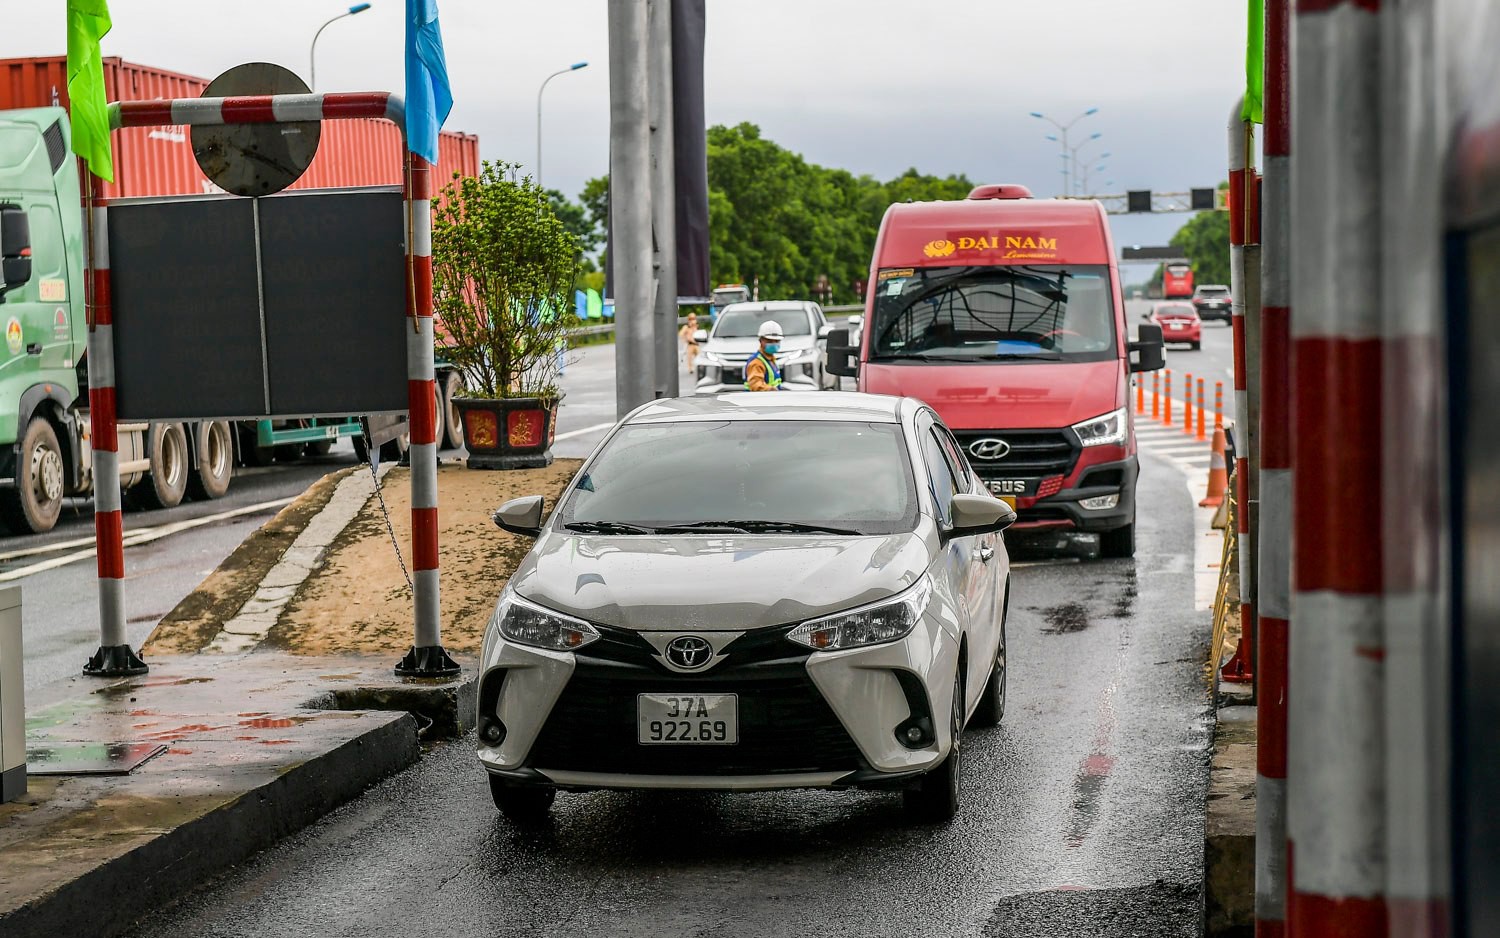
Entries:
{"label": "red-and-white post below the green flag at right, ending above the ground", "polygon": [[[1234,102],[1228,119],[1228,266],[1233,305],[1230,324],[1234,327],[1234,521],[1239,537],[1239,647],[1234,656],[1220,669],[1220,678],[1248,684],[1256,680],[1256,563],[1252,530],[1252,503],[1256,489],[1251,485],[1254,465],[1254,408],[1250,395],[1251,333],[1246,321],[1250,309],[1250,278],[1258,276],[1258,255],[1250,260],[1250,212],[1254,192],[1254,170],[1250,167],[1251,129],[1242,117],[1244,101]],[[1252,267],[1256,273],[1252,275]],[[1258,293],[1258,291],[1257,291]]]}

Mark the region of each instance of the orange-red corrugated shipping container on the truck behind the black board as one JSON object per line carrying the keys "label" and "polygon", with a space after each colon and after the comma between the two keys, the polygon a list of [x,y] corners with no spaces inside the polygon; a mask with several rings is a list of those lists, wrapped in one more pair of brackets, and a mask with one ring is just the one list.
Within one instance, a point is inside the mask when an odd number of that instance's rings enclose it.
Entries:
{"label": "orange-red corrugated shipping container on the truck behind the black board", "polygon": [[[110,101],[198,98],[207,78],[180,75],[122,59],[104,60]],[[0,59],[0,111],[68,107],[68,59]],[[318,155],[292,189],[394,186],[400,183],[400,132],[388,120],[327,120]],[[478,137],[442,132],[435,186],[454,173],[478,176]],[[126,128],[114,132],[114,182],[106,198],[216,192],[192,156],[188,128]]]}

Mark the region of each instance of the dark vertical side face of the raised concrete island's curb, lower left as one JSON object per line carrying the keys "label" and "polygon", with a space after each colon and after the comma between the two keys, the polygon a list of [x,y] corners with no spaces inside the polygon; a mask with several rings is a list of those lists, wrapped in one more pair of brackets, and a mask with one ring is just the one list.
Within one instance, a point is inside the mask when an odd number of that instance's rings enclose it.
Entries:
{"label": "dark vertical side face of the raised concrete island's curb, lower left", "polygon": [[418,758],[416,722],[393,717],[38,900],[0,912],[0,932],[8,938],[117,935]]}

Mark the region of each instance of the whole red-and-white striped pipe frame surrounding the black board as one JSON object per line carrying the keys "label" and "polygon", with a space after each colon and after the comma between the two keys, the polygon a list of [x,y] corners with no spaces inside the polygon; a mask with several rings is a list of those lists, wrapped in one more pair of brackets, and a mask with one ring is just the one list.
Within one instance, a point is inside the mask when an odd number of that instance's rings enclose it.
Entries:
{"label": "whole red-and-white striped pipe frame surrounding the black board", "polygon": [[[411,432],[411,555],[414,642],[396,665],[404,675],[448,677],[459,672],[441,644],[438,611],[438,447],[432,362],[432,180],[428,162],[405,147],[406,120],[400,98],[386,92],[336,95],[255,95],[132,101],[110,105],[110,128],[280,123],[297,120],[386,119],[402,135],[406,222],[406,393]],[[88,285],[90,419],[94,446],[94,536],[99,552],[99,614],[102,647],[96,659],[124,641],[120,581],[120,464],[114,419],[114,350],[110,330],[110,273],[105,216],[90,215]],[[104,458],[100,459],[100,455]],[[112,518],[111,518],[112,515]],[[117,639],[111,642],[111,639]],[[129,651],[129,647],[124,647]],[[132,656],[134,657],[134,656]],[[138,659],[136,659],[138,660]],[[90,662],[93,663],[93,662]],[[141,665],[144,669],[144,663]]]}

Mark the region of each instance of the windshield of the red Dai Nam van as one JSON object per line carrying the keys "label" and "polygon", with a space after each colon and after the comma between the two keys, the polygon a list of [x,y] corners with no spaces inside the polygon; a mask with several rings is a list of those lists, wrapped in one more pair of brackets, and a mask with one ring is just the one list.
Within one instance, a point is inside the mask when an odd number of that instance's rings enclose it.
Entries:
{"label": "windshield of the red Dai Nam van", "polygon": [[1104,264],[880,270],[870,360],[1107,362]]}

